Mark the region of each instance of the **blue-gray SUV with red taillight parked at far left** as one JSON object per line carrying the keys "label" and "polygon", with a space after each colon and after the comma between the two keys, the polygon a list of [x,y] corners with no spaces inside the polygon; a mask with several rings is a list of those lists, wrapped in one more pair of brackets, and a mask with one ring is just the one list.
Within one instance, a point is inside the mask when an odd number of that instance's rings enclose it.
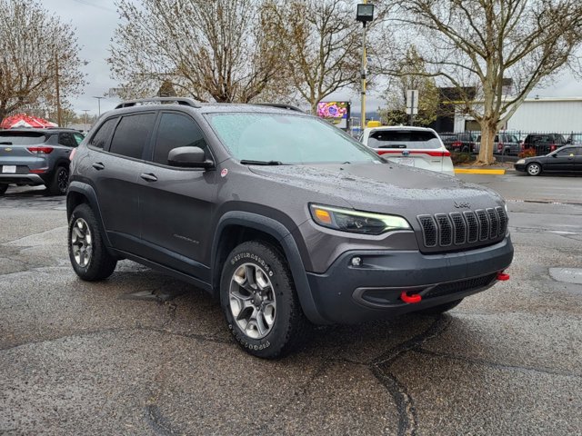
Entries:
{"label": "blue-gray SUV with red taillight parked at far left", "polygon": [[65,195],[69,156],[83,138],[72,129],[0,130],[0,194],[9,184],[44,184],[51,195]]}

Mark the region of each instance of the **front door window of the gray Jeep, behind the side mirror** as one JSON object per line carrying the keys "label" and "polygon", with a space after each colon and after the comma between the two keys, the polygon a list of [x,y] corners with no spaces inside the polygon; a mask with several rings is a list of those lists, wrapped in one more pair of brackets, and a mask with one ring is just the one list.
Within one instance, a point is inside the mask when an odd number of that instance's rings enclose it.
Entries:
{"label": "front door window of the gray Jeep, behind the side mirror", "polygon": [[192,118],[183,114],[162,114],[153,162],[167,165],[167,154],[176,147],[200,147],[206,151],[206,140]]}

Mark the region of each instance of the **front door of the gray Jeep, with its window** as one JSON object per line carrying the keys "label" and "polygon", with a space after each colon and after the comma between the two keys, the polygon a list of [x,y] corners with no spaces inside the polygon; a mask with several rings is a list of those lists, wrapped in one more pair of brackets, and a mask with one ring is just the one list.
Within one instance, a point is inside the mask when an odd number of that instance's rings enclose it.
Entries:
{"label": "front door of the gray Jeep, with its window", "polygon": [[205,136],[192,117],[163,112],[152,150],[137,180],[143,249],[148,259],[209,282],[216,171],[169,166],[170,150],[183,146],[200,147],[206,151],[206,158],[212,158]]}

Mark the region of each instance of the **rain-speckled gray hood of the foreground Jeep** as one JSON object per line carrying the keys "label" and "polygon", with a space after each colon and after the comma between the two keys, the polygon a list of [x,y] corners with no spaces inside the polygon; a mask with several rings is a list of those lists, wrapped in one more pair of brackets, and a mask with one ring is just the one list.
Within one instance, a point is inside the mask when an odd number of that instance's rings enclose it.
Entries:
{"label": "rain-speckled gray hood of the foreground Jeep", "polygon": [[[396,213],[407,218],[424,213],[463,212],[503,205],[485,187],[456,177],[396,163],[249,166],[253,173],[314,193],[312,202],[344,200],[354,209]],[[341,206],[343,202],[336,202]]]}

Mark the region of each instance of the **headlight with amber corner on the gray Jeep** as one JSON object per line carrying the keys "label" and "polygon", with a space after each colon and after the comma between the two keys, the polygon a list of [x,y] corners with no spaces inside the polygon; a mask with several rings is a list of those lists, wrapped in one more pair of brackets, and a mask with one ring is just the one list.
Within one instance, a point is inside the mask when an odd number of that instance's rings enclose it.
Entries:
{"label": "headlight with amber corner on the gray Jeep", "polygon": [[396,215],[359,212],[318,204],[310,204],[309,211],[313,221],[319,225],[342,232],[380,234],[393,230],[411,230],[406,219]]}

